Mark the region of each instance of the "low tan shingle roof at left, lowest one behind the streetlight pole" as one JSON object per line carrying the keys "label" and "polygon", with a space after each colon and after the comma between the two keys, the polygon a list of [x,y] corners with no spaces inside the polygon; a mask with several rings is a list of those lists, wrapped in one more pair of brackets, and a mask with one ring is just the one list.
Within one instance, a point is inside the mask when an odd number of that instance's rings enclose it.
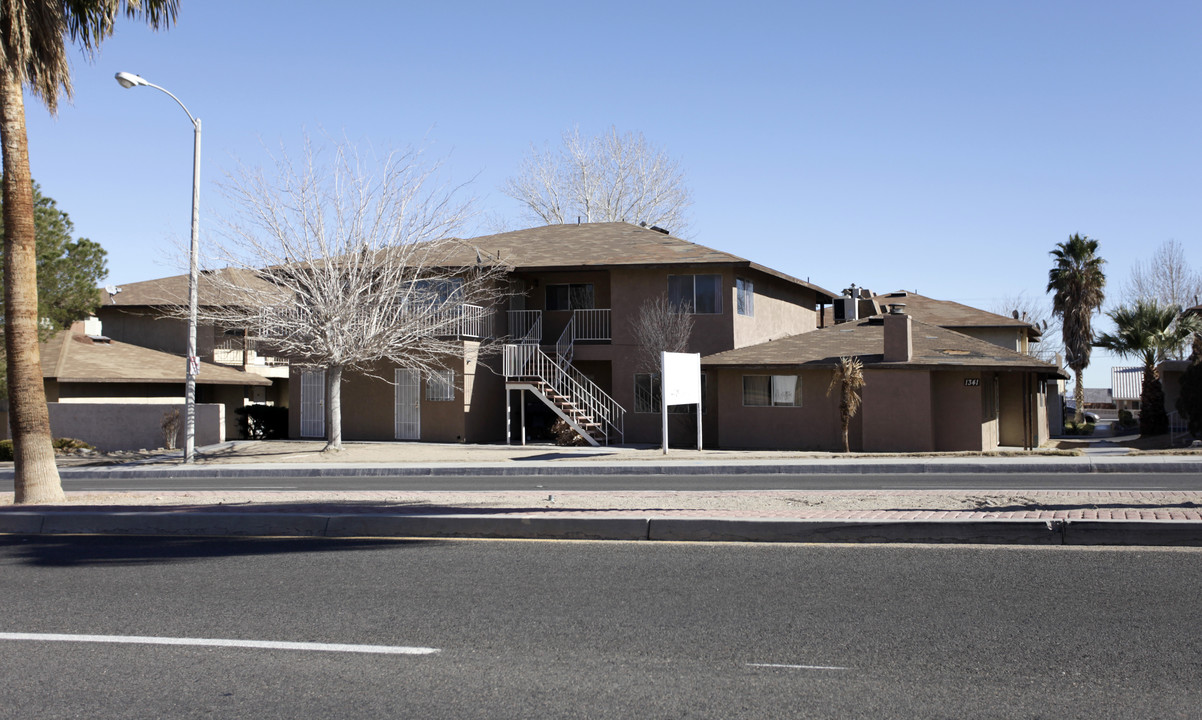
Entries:
{"label": "low tan shingle roof at left, lowest one behind the streetlight pole", "polygon": [[[42,376],[59,382],[184,382],[184,358],[115,340],[94,341],[64,331],[42,344]],[[263,385],[251,373],[201,363],[200,385]]]}

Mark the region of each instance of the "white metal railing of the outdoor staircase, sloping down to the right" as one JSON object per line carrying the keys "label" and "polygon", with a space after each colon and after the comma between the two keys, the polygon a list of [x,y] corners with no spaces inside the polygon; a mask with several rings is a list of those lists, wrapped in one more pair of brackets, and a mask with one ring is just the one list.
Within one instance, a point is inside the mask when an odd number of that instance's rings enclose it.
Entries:
{"label": "white metal railing of the outdoor staircase, sloping down to the right", "polygon": [[587,418],[596,423],[606,444],[611,435],[617,435],[619,442],[623,440],[626,410],[583,373],[561,365],[537,345],[506,345],[504,371],[506,379],[545,383],[578,412],[577,421]]}

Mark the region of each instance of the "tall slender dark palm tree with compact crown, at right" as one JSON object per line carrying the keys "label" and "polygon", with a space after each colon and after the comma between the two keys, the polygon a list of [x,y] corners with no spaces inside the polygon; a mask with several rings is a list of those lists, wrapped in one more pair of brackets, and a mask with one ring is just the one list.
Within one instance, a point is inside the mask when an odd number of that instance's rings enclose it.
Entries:
{"label": "tall slender dark palm tree with compact crown, at right", "polygon": [[1081,424],[1085,409],[1085,368],[1089,367],[1089,351],[1094,345],[1094,329],[1090,319],[1102,307],[1106,296],[1106,275],[1097,256],[1097,240],[1073,234],[1065,243],[1057,243],[1051,252],[1055,266],[1048,270],[1047,292],[1053,292],[1052,313],[1060,319],[1060,335],[1064,338],[1064,351],[1069,367],[1076,374],[1077,416]]}

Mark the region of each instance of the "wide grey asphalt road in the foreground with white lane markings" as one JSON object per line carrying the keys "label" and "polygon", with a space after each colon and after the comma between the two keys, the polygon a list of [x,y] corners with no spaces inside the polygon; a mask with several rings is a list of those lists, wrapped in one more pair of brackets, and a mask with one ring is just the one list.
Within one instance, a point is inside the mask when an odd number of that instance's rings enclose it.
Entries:
{"label": "wide grey asphalt road in the foreground with white lane markings", "polygon": [[1191,549],[10,536],[0,578],[0,718],[1202,707]]}

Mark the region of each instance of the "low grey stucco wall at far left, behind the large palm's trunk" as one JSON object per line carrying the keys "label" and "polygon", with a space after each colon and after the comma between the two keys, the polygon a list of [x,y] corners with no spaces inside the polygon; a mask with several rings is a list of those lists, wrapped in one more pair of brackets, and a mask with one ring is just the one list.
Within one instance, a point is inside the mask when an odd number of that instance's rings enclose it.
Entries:
{"label": "low grey stucco wall at far left, behind the large palm's trunk", "polygon": [[[154,450],[163,446],[163,413],[179,410],[180,426],[175,447],[184,447],[184,404],[148,405],[142,403],[47,403],[50,412],[50,434],[55,438],[76,438],[97,450]],[[8,436],[8,413],[0,412],[0,428]],[[196,445],[224,442],[225,407],[196,405]]]}

